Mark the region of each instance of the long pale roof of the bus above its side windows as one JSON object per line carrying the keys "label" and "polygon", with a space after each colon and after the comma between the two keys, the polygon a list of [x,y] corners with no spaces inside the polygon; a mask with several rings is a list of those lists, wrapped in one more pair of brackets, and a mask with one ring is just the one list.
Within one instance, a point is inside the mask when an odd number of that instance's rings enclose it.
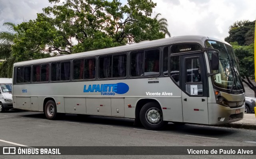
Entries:
{"label": "long pale roof of the bus above its side windows", "polygon": [[[99,49],[99,50],[87,51],[87,52],[82,52],[82,53],[74,53],[74,54],[70,54],[70,55],[48,57],[48,58],[44,58],[44,59],[36,59],[36,60],[31,60],[31,61],[23,61],[23,62],[14,63],[14,67],[38,64],[38,63],[48,63],[48,62],[52,62],[52,61],[63,61],[63,60],[77,59],[77,58],[82,58],[82,57],[93,57],[93,56],[97,56],[97,55],[106,55],[106,54],[112,54],[112,53],[122,53],[122,52],[126,52],[126,51],[146,49],[146,48],[150,48],[150,47],[158,47],[158,46],[162,46],[162,45],[169,45],[169,44],[182,43],[182,42],[186,42],[186,43],[197,42],[204,46],[204,41],[206,39],[221,41],[219,39],[209,38],[209,37],[200,36],[200,35],[174,36],[174,37],[152,40],[152,41],[142,41],[140,43],[134,43],[131,45],[111,47],[111,48],[107,48],[107,49]],[[222,41],[222,42],[224,42],[224,41]],[[224,42],[224,43],[226,43],[226,42]]]}

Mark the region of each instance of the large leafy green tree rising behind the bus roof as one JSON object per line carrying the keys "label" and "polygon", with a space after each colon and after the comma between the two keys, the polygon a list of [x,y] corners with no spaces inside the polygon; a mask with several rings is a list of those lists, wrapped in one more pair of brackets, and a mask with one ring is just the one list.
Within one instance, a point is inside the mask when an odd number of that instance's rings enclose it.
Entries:
{"label": "large leafy green tree rising behind the bus roof", "polygon": [[[49,0],[36,20],[15,27],[12,49],[19,60],[35,54],[70,54],[164,38],[167,21],[150,18],[152,0]],[[165,31],[165,32],[164,32]],[[34,58],[34,57],[33,57]]]}

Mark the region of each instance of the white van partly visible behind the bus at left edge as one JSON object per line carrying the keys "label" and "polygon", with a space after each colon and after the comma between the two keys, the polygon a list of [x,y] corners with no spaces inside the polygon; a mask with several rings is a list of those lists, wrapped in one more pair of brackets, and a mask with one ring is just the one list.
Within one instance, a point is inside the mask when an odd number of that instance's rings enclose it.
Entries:
{"label": "white van partly visible behind the bus at left edge", "polygon": [[0,78],[0,112],[12,108],[12,79]]}

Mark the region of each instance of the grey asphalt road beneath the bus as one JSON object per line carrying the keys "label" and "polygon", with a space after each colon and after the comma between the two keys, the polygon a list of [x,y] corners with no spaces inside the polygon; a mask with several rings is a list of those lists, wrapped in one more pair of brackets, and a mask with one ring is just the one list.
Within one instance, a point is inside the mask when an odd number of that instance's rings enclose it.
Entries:
{"label": "grey asphalt road beneath the bus", "polygon": [[[134,127],[134,120],[67,114],[47,120],[38,112],[0,114],[0,146],[256,146],[256,130],[169,123],[162,131]],[[7,143],[9,142],[9,143]],[[12,143],[10,143],[12,142]],[[0,156],[2,158],[74,158],[71,156]],[[206,156],[76,156],[75,158],[206,158]],[[207,156],[207,158],[241,158]],[[245,156],[255,158],[255,155]]]}

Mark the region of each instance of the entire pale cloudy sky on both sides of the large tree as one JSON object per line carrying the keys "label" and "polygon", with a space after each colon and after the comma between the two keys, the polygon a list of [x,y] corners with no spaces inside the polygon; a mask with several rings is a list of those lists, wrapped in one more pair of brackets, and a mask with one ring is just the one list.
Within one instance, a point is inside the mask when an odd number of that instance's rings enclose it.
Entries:
{"label": "entire pale cloudy sky on both sides of the large tree", "polygon": [[[172,36],[205,35],[224,40],[229,26],[239,20],[256,19],[256,0],[153,0],[158,13],[166,18]],[[120,0],[123,4],[127,0]],[[0,0],[0,31],[4,22],[20,24],[36,19],[48,0]]]}

